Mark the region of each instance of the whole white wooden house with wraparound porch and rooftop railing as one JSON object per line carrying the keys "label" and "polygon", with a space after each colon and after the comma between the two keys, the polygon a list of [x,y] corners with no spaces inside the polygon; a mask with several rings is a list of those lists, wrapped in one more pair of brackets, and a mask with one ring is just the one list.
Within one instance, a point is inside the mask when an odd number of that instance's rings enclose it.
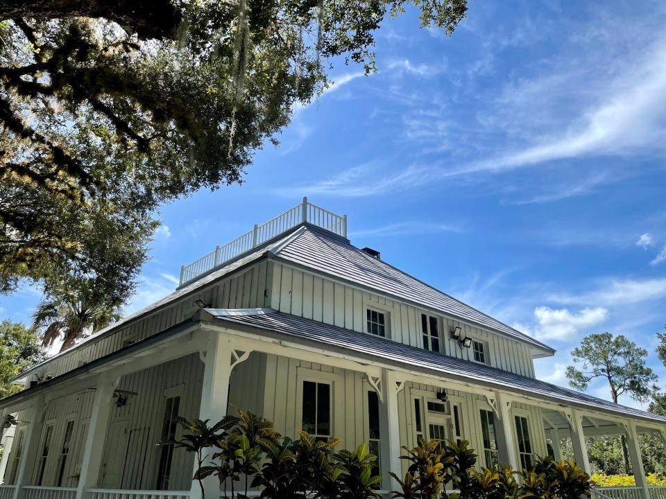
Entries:
{"label": "whole white wooden house with wraparound porch and rooftop railing", "polygon": [[583,437],[622,434],[637,486],[600,493],[666,499],[637,447],[642,432],[666,441],[666,418],[536,379],[552,348],[346,234],[346,217],[304,199],[184,266],[171,295],[17,376],[26,389],[0,400],[18,421],[0,499],[196,499],[193,456],[157,443],[180,432],[176,415],[233,406],[284,435],[369,443],[386,490],[419,436],[466,439],[479,466],[516,469],[570,438],[589,469]]}

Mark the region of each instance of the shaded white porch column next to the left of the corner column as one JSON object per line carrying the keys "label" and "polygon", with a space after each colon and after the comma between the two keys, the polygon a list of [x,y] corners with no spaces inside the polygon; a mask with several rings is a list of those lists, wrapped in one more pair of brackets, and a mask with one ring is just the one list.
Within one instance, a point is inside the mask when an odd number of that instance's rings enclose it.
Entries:
{"label": "shaded white porch column next to the left of the corner column", "polygon": [[102,454],[113,408],[113,392],[120,378],[103,378],[95,389],[92,412],[85,436],[81,473],[76,487],[76,499],[84,499],[87,489],[94,489],[99,480]]}

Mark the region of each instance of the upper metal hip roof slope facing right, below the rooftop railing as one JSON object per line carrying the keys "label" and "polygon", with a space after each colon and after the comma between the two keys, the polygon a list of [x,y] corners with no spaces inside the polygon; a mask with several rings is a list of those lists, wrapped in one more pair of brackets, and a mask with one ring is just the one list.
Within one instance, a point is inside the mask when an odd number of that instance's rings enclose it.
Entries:
{"label": "upper metal hip roof slope facing right, below the rooftop railing", "polygon": [[527,342],[538,349],[554,353],[554,349],[531,336],[370,256],[352,246],[348,240],[330,234],[330,232],[305,225],[294,233],[293,238],[286,240],[284,245],[277,247],[272,252],[283,261],[296,263],[316,272],[329,274],[336,279],[357,283],[425,308],[438,310],[451,317],[477,324],[516,340]]}

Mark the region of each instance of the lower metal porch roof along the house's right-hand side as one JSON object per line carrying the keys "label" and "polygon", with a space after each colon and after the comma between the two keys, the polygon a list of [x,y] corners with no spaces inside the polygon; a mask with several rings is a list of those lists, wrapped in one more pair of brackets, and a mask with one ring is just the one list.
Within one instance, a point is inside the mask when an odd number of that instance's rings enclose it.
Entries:
{"label": "lower metal porch roof along the house's right-hand side", "polygon": [[206,311],[217,319],[226,322],[245,324],[303,340],[314,340],[368,356],[400,362],[409,365],[411,368],[438,371],[456,378],[466,378],[476,384],[504,387],[523,393],[528,392],[533,396],[543,396],[545,399],[551,399],[557,403],[578,405],[604,412],[613,412],[622,416],[634,416],[649,419],[653,422],[666,423],[666,417],[597,399],[597,397],[545,383],[545,381],[527,378],[470,360],[457,359],[445,356],[442,353],[410,347],[379,336],[296,317],[271,308],[244,310],[208,308]]}

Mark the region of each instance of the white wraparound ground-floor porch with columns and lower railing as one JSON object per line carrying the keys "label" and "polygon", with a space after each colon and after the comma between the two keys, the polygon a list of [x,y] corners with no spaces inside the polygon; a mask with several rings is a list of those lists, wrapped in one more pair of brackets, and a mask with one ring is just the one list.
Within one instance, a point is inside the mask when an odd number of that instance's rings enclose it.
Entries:
{"label": "white wraparound ground-floor porch with columns and lower railing", "polygon": [[[331,408],[329,426],[309,431],[341,437],[347,448],[369,443],[380,458],[384,490],[395,488],[388,471],[404,471],[400,447],[413,446],[418,436],[466,439],[480,466],[496,459],[519,469],[549,451],[554,432],[572,439],[577,462],[589,471],[585,435],[624,432],[632,462],[640,462],[633,444],[638,432],[664,435],[656,423],[547,400],[481,376],[472,380],[391,358],[370,361],[311,339],[216,322],[203,311],[196,319],[2,401],[3,415],[15,414],[19,426],[17,447],[1,473],[10,483],[0,485],[0,499],[199,499],[189,480],[193,456],[171,449],[163,466],[167,447],[155,446],[165,431],[178,431],[169,411],[216,421],[235,405],[296,437],[308,423],[305,383],[329,387]],[[68,421],[76,421],[69,437]],[[53,440],[45,446],[49,425]],[[70,464],[63,465],[67,438]],[[552,451],[558,457],[558,449]],[[595,493],[601,499],[666,499],[665,487],[647,487],[642,463],[635,470],[644,486]],[[206,491],[209,498],[223,494],[215,479],[206,481]]]}

